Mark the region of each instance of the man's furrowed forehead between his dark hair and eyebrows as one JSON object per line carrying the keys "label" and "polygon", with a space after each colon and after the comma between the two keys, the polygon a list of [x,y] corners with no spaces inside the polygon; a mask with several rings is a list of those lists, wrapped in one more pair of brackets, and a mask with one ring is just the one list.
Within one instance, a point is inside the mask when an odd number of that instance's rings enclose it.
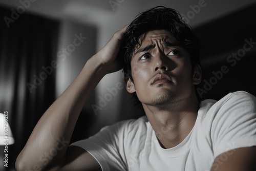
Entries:
{"label": "man's furrowed forehead between his dark hair and eyebrows", "polygon": [[[154,41],[160,42],[177,42],[176,38],[167,30],[153,30],[146,32],[140,38],[140,44],[143,45],[153,44]],[[138,49],[137,47],[136,49]]]}

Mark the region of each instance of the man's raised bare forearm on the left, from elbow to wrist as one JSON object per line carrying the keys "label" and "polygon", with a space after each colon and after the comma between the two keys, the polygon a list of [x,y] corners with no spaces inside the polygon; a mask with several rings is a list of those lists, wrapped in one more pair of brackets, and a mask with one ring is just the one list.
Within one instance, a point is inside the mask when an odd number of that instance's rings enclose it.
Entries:
{"label": "man's raised bare forearm on the left, from elbow to wrist", "polygon": [[101,62],[88,60],[68,89],[50,106],[36,124],[17,165],[23,169],[44,168],[65,156],[79,113],[88,96],[105,75]]}

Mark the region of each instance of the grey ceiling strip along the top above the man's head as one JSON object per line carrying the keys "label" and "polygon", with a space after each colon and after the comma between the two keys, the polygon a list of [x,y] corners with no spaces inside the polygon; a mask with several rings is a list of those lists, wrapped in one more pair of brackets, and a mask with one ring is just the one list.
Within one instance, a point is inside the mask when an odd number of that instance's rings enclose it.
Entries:
{"label": "grey ceiling strip along the top above the man's head", "polygon": [[[31,1],[31,2],[30,2]],[[0,5],[16,9],[21,2],[28,6],[26,12],[53,17],[56,19],[72,19],[81,23],[93,25],[125,25],[140,12],[164,5],[174,8],[181,14],[187,15],[193,7],[202,4],[200,11],[195,13],[189,21],[189,25],[196,26],[216,17],[236,11],[255,3],[255,0],[0,0]],[[112,5],[111,5],[112,4]],[[11,11],[10,11],[11,13]],[[120,27],[120,26],[119,26]]]}

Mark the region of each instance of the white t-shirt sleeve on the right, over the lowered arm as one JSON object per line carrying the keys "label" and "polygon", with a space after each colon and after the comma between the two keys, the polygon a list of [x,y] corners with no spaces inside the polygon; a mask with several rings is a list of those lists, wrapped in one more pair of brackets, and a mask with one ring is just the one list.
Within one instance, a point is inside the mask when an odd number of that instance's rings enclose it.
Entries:
{"label": "white t-shirt sleeve on the right, over the lowered arm", "polygon": [[[214,156],[256,145],[256,98],[234,92],[218,102],[211,126]],[[230,153],[230,152],[229,152]]]}

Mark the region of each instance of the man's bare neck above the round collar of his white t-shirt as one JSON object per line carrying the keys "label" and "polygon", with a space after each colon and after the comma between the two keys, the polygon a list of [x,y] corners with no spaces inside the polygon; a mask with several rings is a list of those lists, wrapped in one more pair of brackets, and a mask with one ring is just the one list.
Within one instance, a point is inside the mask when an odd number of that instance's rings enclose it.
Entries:
{"label": "man's bare neck above the round collar of his white t-shirt", "polygon": [[197,99],[181,100],[170,108],[142,105],[163,148],[172,148],[186,138],[195,125],[199,109]]}

